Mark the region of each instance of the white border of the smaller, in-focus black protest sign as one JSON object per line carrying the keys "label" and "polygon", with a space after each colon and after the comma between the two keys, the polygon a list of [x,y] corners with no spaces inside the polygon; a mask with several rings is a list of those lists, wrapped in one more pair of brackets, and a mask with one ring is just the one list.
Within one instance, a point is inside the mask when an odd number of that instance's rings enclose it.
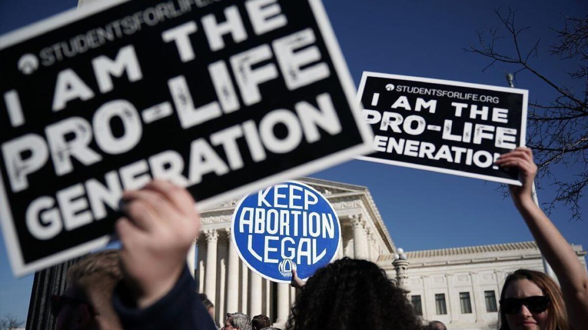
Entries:
{"label": "white border of the smaller, in-focus black protest sign", "polygon": [[[490,90],[497,90],[499,92],[509,92],[509,93],[520,93],[523,95],[523,111],[522,111],[522,118],[524,119],[520,124],[520,147],[523,147],[525,144],[525,139],[527,136],[527,102],[529,100],[529,91],[526,89],[518,89],[518,88],[510,88],[510,87],[500,87],[500,86],[490,86],[490,85],[482,85],[478,83],[467,83],[467,82],[457,82],[453,80],[443,80],[443,79],[433,79],[433,78],[422,78],[422,77],[413,77],[413,76],[402,76],[402,75],[392,75],[388,73],[379,73],[379,72],[369,72],[364,71],[362,75],[362,80],[359,83],[359,90],[356,99],[358,102],[361,102],[363,89],[365,88],[366,80],[368,77],[376,77],[376,78],[390,78],[390,79],[402,79],[402,80],[411,80],[414,82],[428,82],[428,83],[440,83],[443,85],[450,85],[450,86],[462,86],[462,87],[473,87],[473,88],[480,88],[480,89],[490,89]],[[361,103],[360,103],[361,104]],[[372,149],[373,151],[373,149]],[[445,173],[445,174],[453,174],[456,176],[463,176],[463,177],[471,177],[474,179],[482,179],[488,181],[494,181],[499,183],[506,183],[506,184],[514,184],[515,186],[521,186],[522,184],[517,180],[511,180],[506,178],[499,178],[493,176],[486,176],[483,174],[476,174],[476,173],[469,173],[465,171],[458,171],[458,170],[449,170],[449,169],[442,169],[440,167],[433,167],[433,166],[426,166],[420,164],[413,164],[413,163],[406,163],[404,161],[397,161],[397,160],[387,160],[387,159],[380,159],[376,157],[369,157],[369,156],[357,156],[355,157],[359,160],[366,160],[366,161],[373,161],[374,163],[382,163],[382,164],[390,164],[396,166],[403,166],[403,167],[410,167],[412,169],[419,169],[419,170],[427,170],[427,171],[434,171],[437,173]]]}

